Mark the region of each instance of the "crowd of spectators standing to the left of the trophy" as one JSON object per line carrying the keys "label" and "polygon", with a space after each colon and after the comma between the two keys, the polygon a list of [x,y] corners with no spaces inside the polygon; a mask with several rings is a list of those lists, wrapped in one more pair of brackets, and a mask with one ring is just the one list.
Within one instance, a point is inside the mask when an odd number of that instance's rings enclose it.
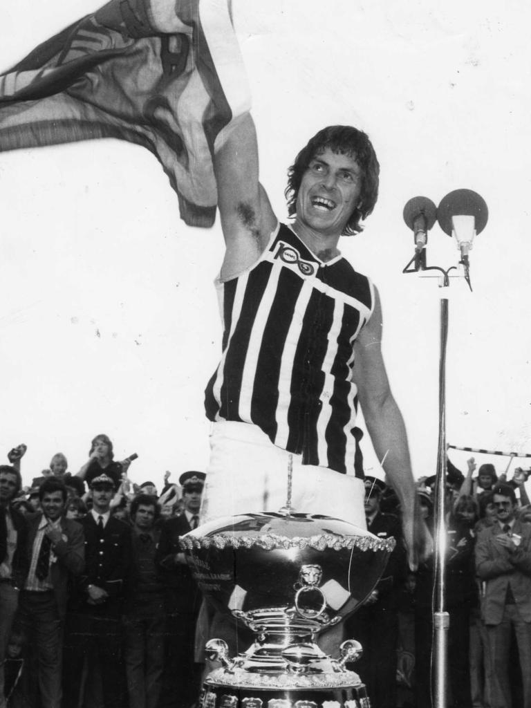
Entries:
{"label": "crowd of spectators standing to the left of the trophy", "polygon": [[201,598],[178,540],[205,474],[132,484],[97,435],[79,472],[59,452],[23,488],[24,452],[0,465],[0,708],[190,708]]}

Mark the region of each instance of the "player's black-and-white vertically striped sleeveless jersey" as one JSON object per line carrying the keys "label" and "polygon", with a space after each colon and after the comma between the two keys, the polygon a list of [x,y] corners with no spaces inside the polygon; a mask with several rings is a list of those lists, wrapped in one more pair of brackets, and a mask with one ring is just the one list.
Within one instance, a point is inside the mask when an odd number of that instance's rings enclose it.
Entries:
{"label": "player's black-and-white vertically striped sleeveless jersey", "polygon": [[353,343],[374,307],[370,280],[341,256],[321,263],[280,224],[258,263],[217,289],[208,418],[253,423],[303,464],[362,476]]}

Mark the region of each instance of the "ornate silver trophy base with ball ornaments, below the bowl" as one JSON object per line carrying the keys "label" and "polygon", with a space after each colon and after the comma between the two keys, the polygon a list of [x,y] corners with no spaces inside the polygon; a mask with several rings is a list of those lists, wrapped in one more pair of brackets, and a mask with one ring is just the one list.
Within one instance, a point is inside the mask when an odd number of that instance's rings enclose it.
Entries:
{"label": "ornate silver trophy base with ball ornaments, below the bowl", "polygon": [[207,676],[201,708],[370,708],[365,685],[345,666],[361,655],[358,641],[344,641],[336,660],[314,643],[315,620],[280,607],[234,614],[245,615],[256,641],[232,660],[222,639],[207,643],[207,657],[224,666]]}

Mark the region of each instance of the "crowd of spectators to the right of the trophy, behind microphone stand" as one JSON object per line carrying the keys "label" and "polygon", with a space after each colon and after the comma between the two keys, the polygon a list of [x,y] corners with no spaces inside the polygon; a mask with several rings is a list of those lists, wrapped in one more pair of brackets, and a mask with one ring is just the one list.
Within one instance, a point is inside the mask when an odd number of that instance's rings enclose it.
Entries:
{"label": "crowd of spectators to the right of the trophy, behind microphone stand", "polygon": [[[498,476],[492,464],[482,464],[474,476],[473,458],[468,461],[466,475],[450,460],[447,469],[448,706],[530,708],[531,506],[525,490],[529,471],[515,469],[507,479],[506,474]],[[434,486],[435,476],[418,482],[418,501],[435,551]],[[382,505],[398,513],[387,489],[382,493]],[[429,707],[434,687],[435,553],[414,573],[405,564],[401,573],[394,572],[397,682],[394,695],[376,705]],[[363,612],[367,607],[361,615]],[[355,630],[355,616],[351,622]],[[389,644],[389,630],[386,641]],[[375,649],[375,654],[379,651]],[[375,685],[372,693],[377,695],[381,690]]]}

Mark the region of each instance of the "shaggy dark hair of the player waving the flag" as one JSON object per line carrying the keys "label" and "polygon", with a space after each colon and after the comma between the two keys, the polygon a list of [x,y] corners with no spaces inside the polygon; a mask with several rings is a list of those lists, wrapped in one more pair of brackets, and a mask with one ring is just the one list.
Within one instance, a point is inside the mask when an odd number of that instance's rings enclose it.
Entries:
{"label": "shaggy dark hair of the player waving the flag", "polygon": [[287,213],[293,216],[297,212],[297,195],[302,176],[314,157],[327,147],[332,152],[354,157],[362,169],[360,200],[342,234],[343,236],[353,236],[363,230],[360,221],[366,219],[375,208],[378,198],[379,163],[369,137],[362,130],[351,125],[329,125],[323,130],[319,130],[309,140],[307,146],[299,152],[295,162],[287,171],[287,187],[285,189]]}

